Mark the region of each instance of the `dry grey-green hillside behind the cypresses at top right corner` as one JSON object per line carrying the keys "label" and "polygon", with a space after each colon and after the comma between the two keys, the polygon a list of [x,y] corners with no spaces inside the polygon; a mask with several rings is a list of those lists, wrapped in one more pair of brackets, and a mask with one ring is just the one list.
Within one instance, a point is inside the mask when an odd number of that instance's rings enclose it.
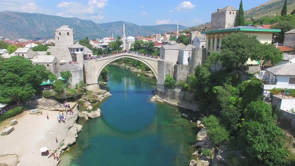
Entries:
{"label": "dry grey-green hillside behind the cypresses at top right corner", "polygon": [[[245,18],[259,18],[271,14],[280,15],[284,0],[269,0],[256,7],[245,11]],[[295,0],[287,1],[287,13],[289,14],[295,8]]]}

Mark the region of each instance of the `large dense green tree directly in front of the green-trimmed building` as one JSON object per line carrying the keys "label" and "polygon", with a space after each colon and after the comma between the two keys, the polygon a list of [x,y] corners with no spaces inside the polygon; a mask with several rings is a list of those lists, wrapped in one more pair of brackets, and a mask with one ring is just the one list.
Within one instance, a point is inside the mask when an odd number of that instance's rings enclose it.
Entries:
{"label": "large dense green tree directly in front of the green-trimmed building", "polygon": [[221,61],[222,64],[235,63],[244,64],[249,57],[256,53],[257,44],[260,42],[256,36],[248,35],[243,32],[231,33],[222,38]]}

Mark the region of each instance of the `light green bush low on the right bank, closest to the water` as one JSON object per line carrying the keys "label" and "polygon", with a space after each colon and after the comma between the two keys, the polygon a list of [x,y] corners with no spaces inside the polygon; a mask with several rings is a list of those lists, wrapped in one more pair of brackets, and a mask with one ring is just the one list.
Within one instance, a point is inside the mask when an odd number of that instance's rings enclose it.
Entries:
{"label": "light green bush low on the right bank, closest to the water", "polygon": [[202,122],[207,127],[207,135],[215,145],[221,145],[229,140],[229,133],[225,127],[220,124],[219,119],[210,115],[202,118]]}

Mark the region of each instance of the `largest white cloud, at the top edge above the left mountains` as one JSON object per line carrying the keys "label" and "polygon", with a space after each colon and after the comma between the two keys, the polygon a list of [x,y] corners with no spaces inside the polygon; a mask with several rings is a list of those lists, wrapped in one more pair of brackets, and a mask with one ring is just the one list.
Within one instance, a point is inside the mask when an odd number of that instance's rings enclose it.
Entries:
{"label": "largest white cloud, at the top edge above the left mountains", "polygon": [[107,0],[88,0],[87,4],[75,1],[62,1],[57,4],[60,11],[56,15],[98,21],[103,19],[102,8],[106,5]]}

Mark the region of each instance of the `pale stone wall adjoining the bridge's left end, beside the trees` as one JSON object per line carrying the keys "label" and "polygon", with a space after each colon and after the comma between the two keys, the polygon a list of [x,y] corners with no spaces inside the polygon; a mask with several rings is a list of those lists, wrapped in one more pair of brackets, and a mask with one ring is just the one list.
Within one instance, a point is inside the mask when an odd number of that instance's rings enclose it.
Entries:
{"label": "pale stone wall adjoining the bridge's left end, beside the trees", "polygon": [[69,70],[71,73],[71,87],[74,87],[76,83],[79,83],[80,80],[84,79],[83,76],[83,66],[81,63],[73,63],[73,64],[61,64],[59,66],[59,72]]}

